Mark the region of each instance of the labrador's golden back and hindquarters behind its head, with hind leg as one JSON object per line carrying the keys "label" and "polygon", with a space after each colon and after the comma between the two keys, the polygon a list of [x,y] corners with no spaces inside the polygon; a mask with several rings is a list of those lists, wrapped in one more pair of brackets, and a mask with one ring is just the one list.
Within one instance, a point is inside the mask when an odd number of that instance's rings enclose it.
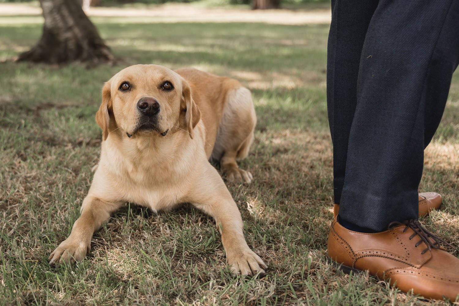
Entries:
{"label": "labrador's golden back and hindquarters behind its head, with hind leg", "polygon": [[[238,173],[236,159],[247,156],[257,122],[250,90],[239,81],[219,77],[194,68],[176,70],[190,84],[193,100],[199,107],[206,128],[206,154],[225,171],[246,182],[250,173]],[[209,90],[212,89],[212,90]],[[237,170],[236,170],[237,169]]]}

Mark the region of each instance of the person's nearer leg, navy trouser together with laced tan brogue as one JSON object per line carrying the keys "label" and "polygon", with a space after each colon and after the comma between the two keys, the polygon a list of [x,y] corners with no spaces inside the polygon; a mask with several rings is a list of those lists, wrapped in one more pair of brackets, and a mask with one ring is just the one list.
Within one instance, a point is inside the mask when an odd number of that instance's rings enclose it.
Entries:
{"label": "person's nearer leg, navy trouser together with laced tan brogue", "polygon": [[[458,65],[457,20],[455,0],[379,1],[362,48],[341,209],[327,243],[330,261],[344,271],[368,270],[403,292],[451,301],[459,296],[459,259],[417,220],[417,189]],[[335,142],[339,131],[330,128]]]}

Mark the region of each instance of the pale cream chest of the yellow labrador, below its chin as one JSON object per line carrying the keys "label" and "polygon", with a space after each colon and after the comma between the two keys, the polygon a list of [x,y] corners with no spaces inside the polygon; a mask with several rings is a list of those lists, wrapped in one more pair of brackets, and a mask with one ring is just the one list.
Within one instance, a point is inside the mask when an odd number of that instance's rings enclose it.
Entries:
{"label": "pale cream chest of the yellow labrador, below its chin", "polygon": [[101,169],[97,170],[101,176],[97,186],[112,193],[113,199],[156,211],[171,208],[181,203],[190,190],[195,180],[196,160],[207,161],[196,147],[179,149],[179,145],[129,146],[123,150],[106,146],[101,154]]}

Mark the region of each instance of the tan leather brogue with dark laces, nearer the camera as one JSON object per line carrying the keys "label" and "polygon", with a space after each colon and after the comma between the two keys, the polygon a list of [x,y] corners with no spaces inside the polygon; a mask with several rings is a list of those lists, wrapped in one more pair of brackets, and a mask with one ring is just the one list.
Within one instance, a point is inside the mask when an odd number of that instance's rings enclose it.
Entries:
{"label": "tan leather brogue with dark laces, nearer the camera", "polygon": [[375,234],[357,233],[335,221],[328,236],[329,259],[347,273],[368,270],[403,292],[455,301],[459,295],[459,259],[442,247],[444,240],[418,220],[391,223]]}

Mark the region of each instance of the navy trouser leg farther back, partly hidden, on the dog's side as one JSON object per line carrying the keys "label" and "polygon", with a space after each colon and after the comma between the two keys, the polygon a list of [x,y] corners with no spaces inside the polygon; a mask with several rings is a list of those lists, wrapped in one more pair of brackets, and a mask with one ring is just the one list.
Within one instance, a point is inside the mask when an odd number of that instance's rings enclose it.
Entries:
{"label": "navy trouser leg farther back, partly hidden, on the dog's side", "polygon": [[377,0],[331,1],[327,47],[327,106],[333,142],[334,200],[340,203],[349,132],[357,105],[362,46]]}

